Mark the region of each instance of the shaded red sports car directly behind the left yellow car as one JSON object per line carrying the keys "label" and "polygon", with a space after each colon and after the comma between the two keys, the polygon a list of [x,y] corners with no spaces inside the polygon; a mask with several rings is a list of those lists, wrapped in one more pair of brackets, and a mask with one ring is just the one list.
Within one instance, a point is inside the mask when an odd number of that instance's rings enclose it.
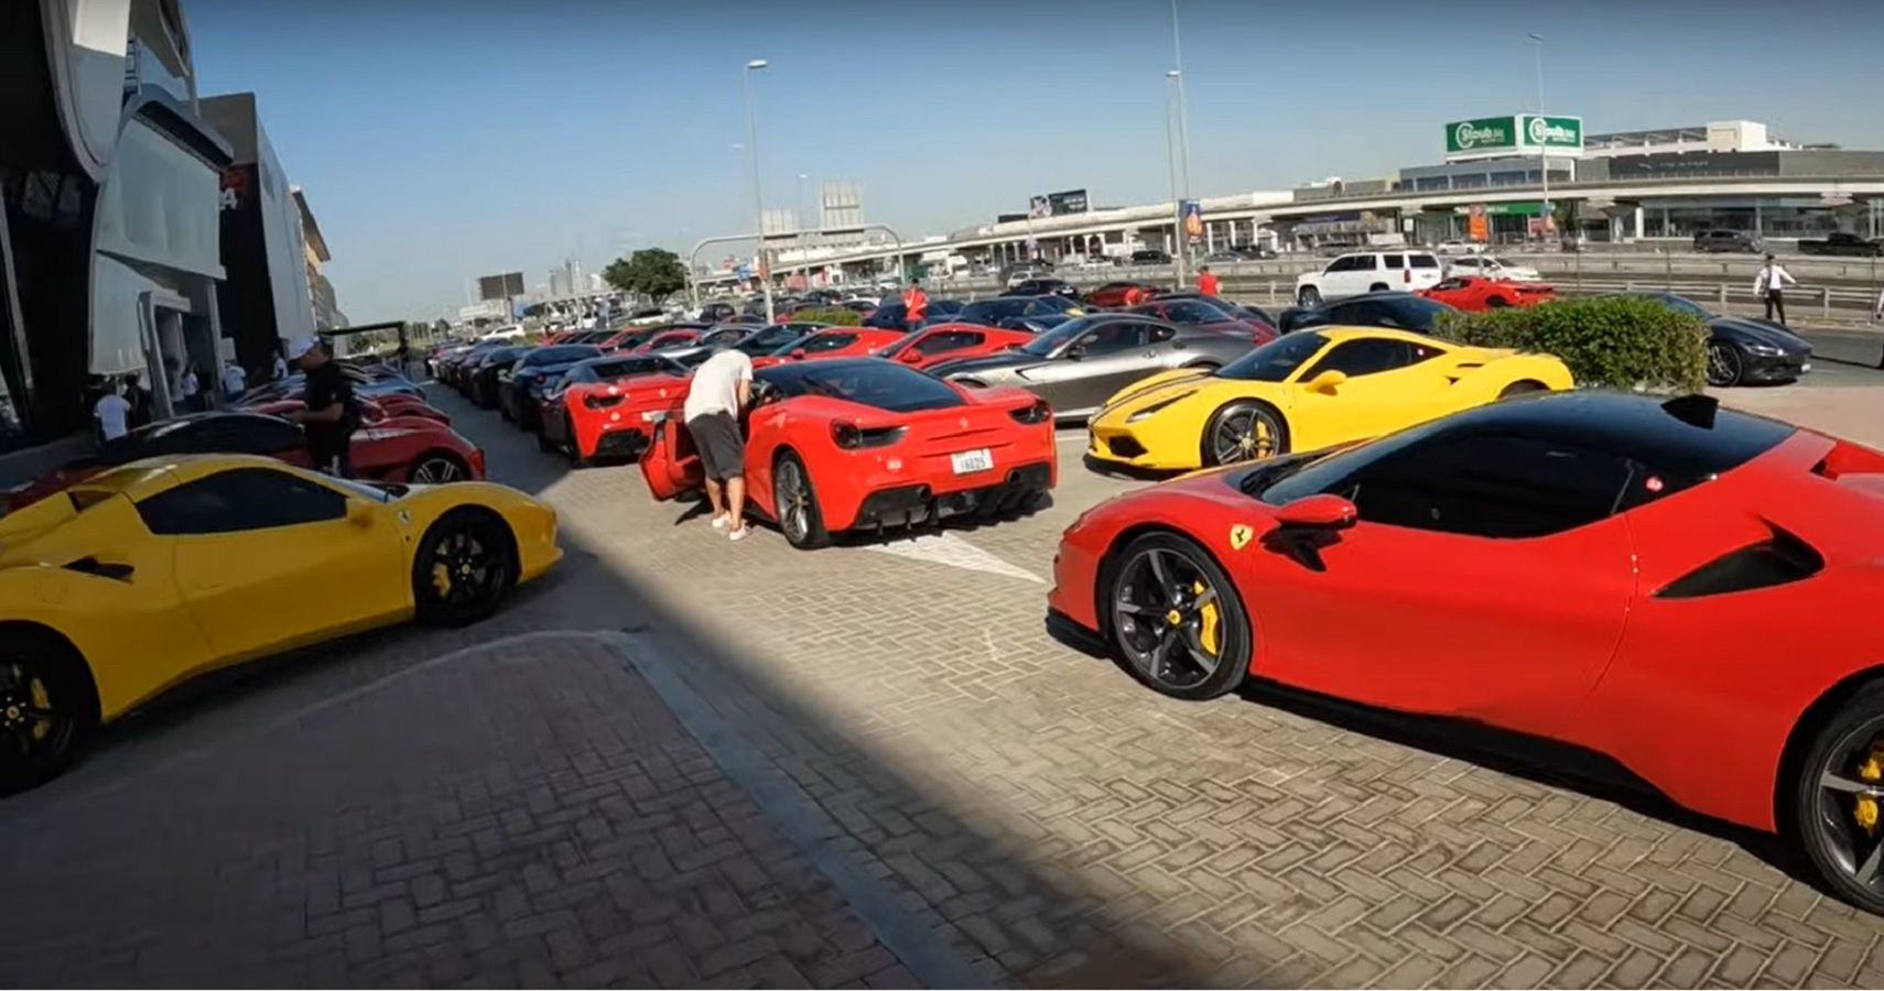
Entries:
{"label": "shaded red sports car directly behind the left yellow car", "polygon": [[[41,475],[13,490],[9,509],[64,492],[100,471],[164,454],[262,454],[309,467],[301,428],[260,413],[194,413],[130,431],[121,445]],[[437,420],[396,416],[352,435],[352,473],[377,482],[439,484],[484,477],[484,452]]]}

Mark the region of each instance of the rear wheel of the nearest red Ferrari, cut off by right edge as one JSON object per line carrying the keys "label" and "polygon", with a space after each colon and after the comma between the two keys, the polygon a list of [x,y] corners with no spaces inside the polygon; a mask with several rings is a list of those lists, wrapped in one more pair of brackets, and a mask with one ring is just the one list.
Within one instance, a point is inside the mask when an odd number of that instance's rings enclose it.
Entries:
{"label": "rear wheel of the nearest red Ferrari, cut off by right edge", "polygon": [[1818,725],[1794,767],[1780,831],[1837,897],[1884,914],[1884,682],[1860,688]]}

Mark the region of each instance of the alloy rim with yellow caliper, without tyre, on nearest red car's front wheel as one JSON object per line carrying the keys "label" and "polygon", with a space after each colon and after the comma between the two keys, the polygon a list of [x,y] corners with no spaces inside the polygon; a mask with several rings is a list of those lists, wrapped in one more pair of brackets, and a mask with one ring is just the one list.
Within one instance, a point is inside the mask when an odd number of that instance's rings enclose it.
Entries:
{"label": "alloy rim with yellow caliper, without tyre, on nearest red car's front wheel", "polygon": [[1132,667],[1159,688],[1193,690],[1223,663],[1223,605],[1210,575],[1185,554],[1134,554],[1113,586],[1112,627]]}

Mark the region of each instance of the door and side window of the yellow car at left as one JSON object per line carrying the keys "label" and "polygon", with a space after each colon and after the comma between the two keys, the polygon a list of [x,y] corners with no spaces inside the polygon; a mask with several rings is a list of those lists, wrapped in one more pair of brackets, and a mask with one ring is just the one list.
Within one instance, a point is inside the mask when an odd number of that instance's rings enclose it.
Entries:
{"label": "door and side window of the yellow car at left", "polygon": [[215,471],[143,499],[138,514],[175,539],[177,588],[220,661],[411,607],[396,514],[288,469]]}

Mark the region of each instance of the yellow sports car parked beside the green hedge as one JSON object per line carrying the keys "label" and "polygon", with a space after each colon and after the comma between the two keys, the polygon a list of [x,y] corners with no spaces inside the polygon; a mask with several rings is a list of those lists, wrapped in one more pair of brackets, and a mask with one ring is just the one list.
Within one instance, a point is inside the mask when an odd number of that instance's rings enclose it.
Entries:
{"label": "yellow sports car parked beside the green hedge", "polygon": [[1115,392],[1087,454],[1159,471],[1379,437],[1519,392],[1569,388],[1551,354],[1464,347],[1385,328],[1287,333],[1217,371],[1176,369]]}

